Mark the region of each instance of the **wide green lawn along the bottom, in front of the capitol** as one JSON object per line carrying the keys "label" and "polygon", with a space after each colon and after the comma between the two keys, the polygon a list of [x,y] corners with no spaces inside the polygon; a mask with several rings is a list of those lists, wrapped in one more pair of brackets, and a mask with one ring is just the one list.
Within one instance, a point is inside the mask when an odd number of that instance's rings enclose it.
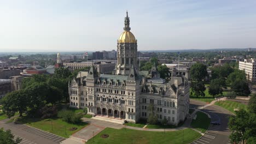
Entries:
{"label": "wide green lawn along the bottom, in front of the capitol", "polygon": [[[108,134],[109,137],[103,139],[102,134]],[[106,128],[99,134],[91,138],[88,143],[182,143],[184,136],[184,143],[190,143],[198,139],[201,135],[192,129],[184,129],[178,131],[156,132],[143,131],[133,129],[112,129]]]}

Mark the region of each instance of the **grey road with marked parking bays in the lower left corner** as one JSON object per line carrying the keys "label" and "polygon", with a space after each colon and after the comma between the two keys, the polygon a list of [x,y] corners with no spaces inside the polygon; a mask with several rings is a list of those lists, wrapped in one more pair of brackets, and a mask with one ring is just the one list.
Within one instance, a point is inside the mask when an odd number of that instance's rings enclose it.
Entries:
{"label": "grey road with marked parking bays in the lower left corner", "polygon": [[53,140],[46,139],[40,135],[36,135],[36,133],[30,133],[24,129],[19,128],[19,126],[13,126],[11,124],[5,124],[3,121],[0,121],[0,128],[4,128],[4,130],[11,130],[11,133],[15,135],[15,137],[21,137],[21,144],[56,144],[59,142],[54,142]]}

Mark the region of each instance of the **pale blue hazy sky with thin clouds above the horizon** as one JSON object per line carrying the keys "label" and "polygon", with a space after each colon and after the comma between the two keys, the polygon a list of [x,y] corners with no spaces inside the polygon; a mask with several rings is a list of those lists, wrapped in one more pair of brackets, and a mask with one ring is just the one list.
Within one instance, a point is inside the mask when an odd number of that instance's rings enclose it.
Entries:
{"label": "pale blue hazy sky with thin clouds above the horizon", "polygon": [[126,10],[138,51],[256,47],[255,0],[0,0],[0,52],[117,50]]}

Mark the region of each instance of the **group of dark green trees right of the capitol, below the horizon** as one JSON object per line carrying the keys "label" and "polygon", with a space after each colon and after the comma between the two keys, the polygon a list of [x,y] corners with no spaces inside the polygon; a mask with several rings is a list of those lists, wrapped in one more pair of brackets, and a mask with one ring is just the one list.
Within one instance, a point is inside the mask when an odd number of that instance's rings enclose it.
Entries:
{"label": "group of dark green trees right of the capitol, below the horizon", "polygon": [[[223,88],[227,89],[230,86],[231,91],[228,95],[243,95],[251,94],[249,84],[246,79],[245,71],[235,68],[235,65],[225,63],[211,68],[212,77],[210,78],[209,94],[216,96],[223,94]],[[205,96],[205,80],[207,74],[207,67],[202,63],[192,65],[190,69],[191,74],[191,90],[196,97]],[[231,97],[231,96],[230,96]]]}

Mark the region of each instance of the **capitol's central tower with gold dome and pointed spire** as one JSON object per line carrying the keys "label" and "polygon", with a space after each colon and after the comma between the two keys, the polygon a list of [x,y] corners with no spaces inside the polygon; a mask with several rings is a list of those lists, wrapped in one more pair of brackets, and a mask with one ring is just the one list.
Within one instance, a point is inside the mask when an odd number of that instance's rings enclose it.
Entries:
{"label": "capitol's central tower with gold dome and pointed spire", "polygon": [[137,40],[130,32],[130,17],[126,11],[124,32],[118,39],[117,75],[129,75],[131,67],[137,72]]}

